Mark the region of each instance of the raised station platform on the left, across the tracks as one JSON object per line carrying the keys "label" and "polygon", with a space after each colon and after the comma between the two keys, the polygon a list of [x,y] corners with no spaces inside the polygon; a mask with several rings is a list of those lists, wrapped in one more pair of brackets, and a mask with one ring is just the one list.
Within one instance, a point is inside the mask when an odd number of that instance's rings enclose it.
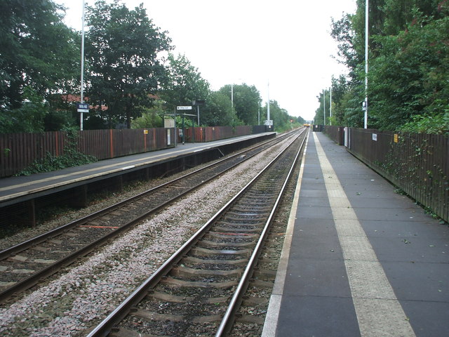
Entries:
{"label": "raised station platform on the left, across the tracks", "polygon": [[58,171],[36,173],[30,176],[18,176],[0,179],[0,211],[1,207],[21,201],[27,201],[46,194],[69,190],[88,182],[102,180],[124,173],[154,167],[155,164],[187,156],[199,156],[201,153],[217,150],[220,157],[224,152],[231,152],[238,147],[249,146],[262,140],[276,136],[276,133],[256,133],[248,136],[215,140],[208,143],[177,144],[176,147],[133,154],[97,161],[95,163],[76,166]]}

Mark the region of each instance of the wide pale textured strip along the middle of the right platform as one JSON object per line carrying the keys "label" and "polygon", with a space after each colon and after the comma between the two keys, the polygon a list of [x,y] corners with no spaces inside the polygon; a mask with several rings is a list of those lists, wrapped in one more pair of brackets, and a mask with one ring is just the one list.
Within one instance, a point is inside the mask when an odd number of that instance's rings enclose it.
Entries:
{"label": "wide pale textured strip along the middle of the right platform", "polygon": [[361,336],[415,337],[401,303],[315,133],[314,140],[343,251]]}

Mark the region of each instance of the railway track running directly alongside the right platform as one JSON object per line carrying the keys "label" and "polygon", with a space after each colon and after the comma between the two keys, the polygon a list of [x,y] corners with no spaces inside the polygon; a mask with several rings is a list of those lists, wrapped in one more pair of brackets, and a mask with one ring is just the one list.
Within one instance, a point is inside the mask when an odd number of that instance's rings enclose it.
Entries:
{"label": "railway track running directly alongside the right platform", "polygon": [[[225,336],[255,275],[305,136],[293,140],[88,337]],[[274,272],[268,274],[273,278]]]}

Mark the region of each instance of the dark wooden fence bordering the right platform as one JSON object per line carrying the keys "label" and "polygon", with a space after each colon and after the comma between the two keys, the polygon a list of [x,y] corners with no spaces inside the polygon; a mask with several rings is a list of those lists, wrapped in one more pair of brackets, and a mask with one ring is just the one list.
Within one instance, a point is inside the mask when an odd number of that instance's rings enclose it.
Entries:
{"label": "dark wooden fence bordering the right platform", "polygon": [[[325,128],[336,142],[341,139],[337,128]],[[351,154],[449,222],[448,136],[363,128],[346,128],[346,133]]]}

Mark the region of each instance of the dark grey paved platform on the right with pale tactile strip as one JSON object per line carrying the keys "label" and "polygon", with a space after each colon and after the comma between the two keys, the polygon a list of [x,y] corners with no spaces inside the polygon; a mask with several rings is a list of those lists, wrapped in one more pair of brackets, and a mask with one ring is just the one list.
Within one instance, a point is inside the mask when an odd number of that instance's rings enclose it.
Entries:
{"label": "dark grey paved platform on the right with pale tactile strip", "polygon": [[449,336],[448,225],[309,133],[262,336]]}

